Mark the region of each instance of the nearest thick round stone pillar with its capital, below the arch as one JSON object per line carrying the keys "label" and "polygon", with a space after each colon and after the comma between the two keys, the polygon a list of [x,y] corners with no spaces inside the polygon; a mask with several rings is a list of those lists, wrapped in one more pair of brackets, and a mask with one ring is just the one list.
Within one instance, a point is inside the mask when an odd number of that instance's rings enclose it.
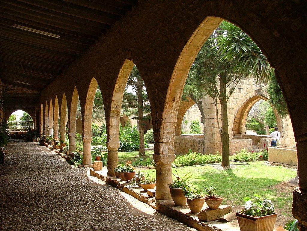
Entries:
{"label": "nearest thick round stone pillar with its capital, below the arch", "polygon": [[[157,179],[156,179],[156,199],[157,200],[169,200],[171,194],[169,190],[169,184],[173,182],[172,163],[175,160],[175,154],[156,154],[163,153],[163,151],[170,151],[169,148],[173,147],[168,143],[154,144],[155,154],[153,154],[153,160],[157,167]],[[166,150],[163,150],[163,149]]]}

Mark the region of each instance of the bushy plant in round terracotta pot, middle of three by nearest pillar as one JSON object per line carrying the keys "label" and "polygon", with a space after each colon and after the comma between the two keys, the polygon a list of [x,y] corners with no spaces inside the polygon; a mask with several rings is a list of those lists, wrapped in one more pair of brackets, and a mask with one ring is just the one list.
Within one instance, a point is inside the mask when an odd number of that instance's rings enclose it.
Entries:
{"label": "bushy plant in round terracotta pot, middle of three by nearest pillar", "polygon": [[183,194],[187,198],[187,203],[191,212],[199,213],[205,203],[205,197],[200,190],[195,187],[189,187]]}

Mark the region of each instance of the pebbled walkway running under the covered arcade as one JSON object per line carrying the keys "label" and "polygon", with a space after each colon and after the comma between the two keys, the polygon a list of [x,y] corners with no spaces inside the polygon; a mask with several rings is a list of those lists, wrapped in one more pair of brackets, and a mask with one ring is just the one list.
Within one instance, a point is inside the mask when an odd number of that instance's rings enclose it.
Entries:
{"label": "pebbled walkway running under the covered arcade", "polygon": [[38,143],[10,142],[0,165],[0,230],[195,230],[88,172]]}

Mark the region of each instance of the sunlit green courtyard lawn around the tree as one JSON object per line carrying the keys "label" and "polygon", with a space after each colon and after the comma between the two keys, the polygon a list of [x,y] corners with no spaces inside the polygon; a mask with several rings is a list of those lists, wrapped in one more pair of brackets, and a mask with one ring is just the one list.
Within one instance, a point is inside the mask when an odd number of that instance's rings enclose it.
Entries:
{"label": "sunlit green courtyard lawn around the tree", "polygon": [[[286,192],[278,190],[275,186],[294,178],[297,170],[267,165],[263,161],[248,163],[249,165],[231,165],[230,169],[225,170],[220,164],[173,168],[173,173],[183,177],[190,172],[193,178],[191,183],[200,188],[205,195],[205,186],[216,187],[217,194],[224,197],[223,204],[242,206],[244,197],[253,198],[253,194],[259,194],[270,198],[275,209],[282,208],[281,212],[284,216],[290,216],[293,189]],[[145,171],[151,176],[156,175],[155,170]]]}

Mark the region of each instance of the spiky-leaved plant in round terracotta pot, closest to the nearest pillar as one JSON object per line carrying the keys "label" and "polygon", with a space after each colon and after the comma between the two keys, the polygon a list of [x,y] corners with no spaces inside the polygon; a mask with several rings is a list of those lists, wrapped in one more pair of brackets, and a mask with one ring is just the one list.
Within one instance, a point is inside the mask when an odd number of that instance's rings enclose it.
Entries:
{"label": "spiky-leaved plant in round terracotta pot, closest to the nearest pillar", "polygon": [[184,206],[187,203],[187,198],[183,194],[183,191],[186,191],[189,187],[188,181],[191,180],[191,175],[189,174],[189,172],[185,174],[182,179],[177,174],[175,181],[169,184],[171,197],[176,206]]}

